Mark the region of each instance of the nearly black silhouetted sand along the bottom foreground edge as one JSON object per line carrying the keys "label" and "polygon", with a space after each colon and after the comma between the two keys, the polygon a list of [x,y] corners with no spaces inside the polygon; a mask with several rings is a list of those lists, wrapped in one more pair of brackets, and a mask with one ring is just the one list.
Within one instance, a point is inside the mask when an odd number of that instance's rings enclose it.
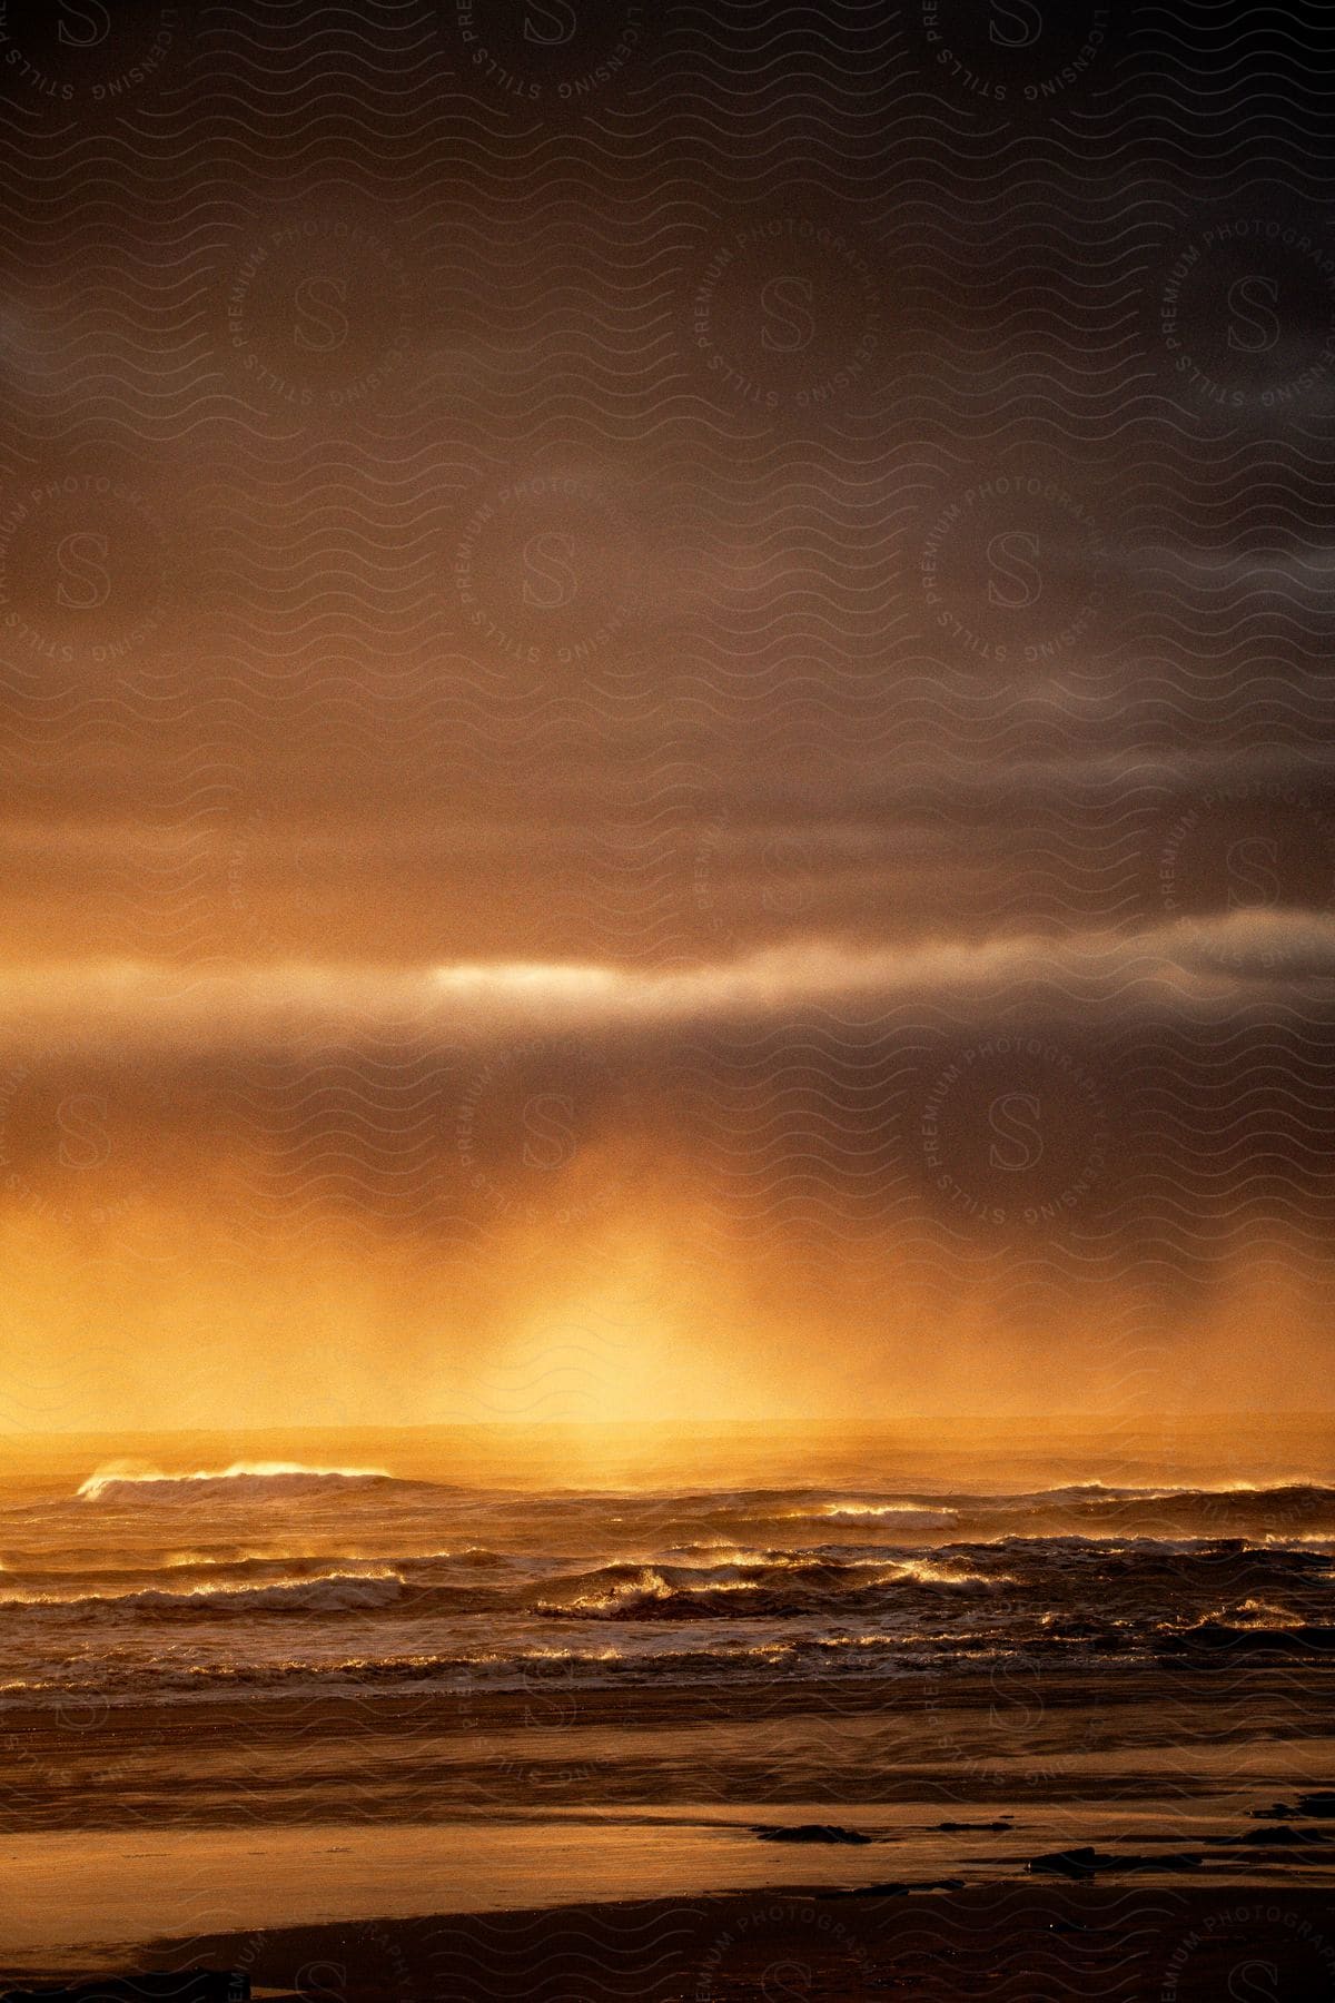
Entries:
{"label": "nearly black silhouetted sand along the bottom foreground edge", "polygon": [[737,2003],[965,1997],[1329,2003],[1335,1899],[1255,1887],[983,1885],[957,1893],[654,1899],[274,1929],[146,1951],[244,1969],[256,1997],[340,2003]]}

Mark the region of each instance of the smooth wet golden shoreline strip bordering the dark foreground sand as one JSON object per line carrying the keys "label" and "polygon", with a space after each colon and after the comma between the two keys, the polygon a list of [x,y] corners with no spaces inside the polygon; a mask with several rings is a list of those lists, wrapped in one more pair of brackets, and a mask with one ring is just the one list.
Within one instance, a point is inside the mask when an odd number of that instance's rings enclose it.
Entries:
{"label": "smooth wet golden shoreline strip bordering the dark foreground sand", "polygon": [[[1247,1817],[1237,1805],[1227,1817],[1181,1805],[1165,1819],[1145,1805],[1087,1799],[1015,1805],[1005,1821],[811,1803],[787,1815],[761,1805],[620,1817],[584,1807],[526,1821],[30,1833],[4,1845],[0,1987],[224,1965],[200,1961],[208,1941],[230,1941],[232,1965],[244,1941],[384,1945],[386,1933],[418,1939],[430,1927],[490,1939],[512,1933],[516,1915],[530,1925],[542,1915],[548,1931],[562,1931],[570,1915],[715,1911],[721,1899],[739,1909],[797,1899],[821,1915],[875,1911],[895,1927],[907,1911],[947,1911],[951,1901],[963,1915],[1069,1899],[1137,1913],[1187,1901],[1199,1915],[1247,1899],[1279,1917],[1309,1905],[1335,1915],[1331,1803],[1335,1795],[1283,1805],[1283,1825],[1279,1805],[1255,1801]],[[358,1953],[364,1961],[368,1949]],[[282,1953],[266,1955],[276,1955],[276,1973],[266,1959],[264,1981],[292,1985]],[[1335,1947],[1319,1995],[1329,1993]]]}

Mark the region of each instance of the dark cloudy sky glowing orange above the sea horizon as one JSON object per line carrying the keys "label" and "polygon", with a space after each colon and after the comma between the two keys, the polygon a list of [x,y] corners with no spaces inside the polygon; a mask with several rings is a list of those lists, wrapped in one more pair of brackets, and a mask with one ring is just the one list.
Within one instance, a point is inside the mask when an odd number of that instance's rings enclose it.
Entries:
{"label": "dark cloudy sky glowing orange above the sea horizon", "polygon": [[1331,1402],[1335,28],[0,24],[0,1428]]}

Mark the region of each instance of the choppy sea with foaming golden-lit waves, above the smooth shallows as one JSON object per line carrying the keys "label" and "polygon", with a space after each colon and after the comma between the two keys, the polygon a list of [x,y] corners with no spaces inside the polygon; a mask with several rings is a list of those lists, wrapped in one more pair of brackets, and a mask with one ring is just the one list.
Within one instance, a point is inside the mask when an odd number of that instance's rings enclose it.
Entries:
{"label": "choppy sea with foaming golden-lit waves, above the smooth shallows", "polygon": [[[937,1450],[923,1428],[685,1448],[608,1428],[344,1434],[294,1458],[192,1438],[14,1454],[0,1703],[1335,1660],[1335,1468],[1315,1436],[1271,1426],[1241,1450],[1247,1480],[1185,1478],[1209,1464],[1199,1430],[1149,1480],[1133,1436],[1091,1454],[993,1428],[969,1454],[941,1430]],[[1051,1480],[1073,1456],[1101,1472]]]}

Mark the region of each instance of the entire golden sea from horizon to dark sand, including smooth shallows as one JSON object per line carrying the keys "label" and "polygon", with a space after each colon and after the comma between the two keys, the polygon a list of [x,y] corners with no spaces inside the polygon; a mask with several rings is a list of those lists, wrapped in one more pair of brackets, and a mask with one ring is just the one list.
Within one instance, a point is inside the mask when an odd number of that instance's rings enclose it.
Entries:
{"label": "entire golden sea from horizon to dark sand, including smooth shallows", "polygon": [[0,1965],[1063,1845],[1335,1883],[1275,1837],[1335,1787],[1329,1422],[14,1442],[0,1566]]}

